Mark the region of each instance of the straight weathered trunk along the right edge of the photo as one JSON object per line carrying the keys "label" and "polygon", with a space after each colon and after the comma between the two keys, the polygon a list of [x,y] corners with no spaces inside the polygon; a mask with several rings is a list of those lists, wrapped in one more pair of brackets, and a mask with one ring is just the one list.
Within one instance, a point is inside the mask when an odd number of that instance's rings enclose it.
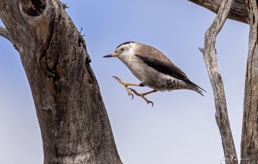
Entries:
{"label": "straight weathered trunk along the right edge of the photo", "polygon": [[[258,9],[257,1],[248,0],[249,48],[246,65],[244,116],[241,136],[241,164],[257,163],[258,157]],[[254,160],[252,160],[254,159]]]}

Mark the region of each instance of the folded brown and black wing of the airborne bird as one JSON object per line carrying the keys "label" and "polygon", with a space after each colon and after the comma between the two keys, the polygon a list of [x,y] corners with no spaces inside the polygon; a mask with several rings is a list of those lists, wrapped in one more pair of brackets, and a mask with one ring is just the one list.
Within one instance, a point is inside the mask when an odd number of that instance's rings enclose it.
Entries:
{"label": "folded brown and black wing of the airborne bird", "polygon": [[[152,47],[154,48],[154,47]],[[155,48],[156,49],[156,48]],[[157,50],[157,49],[156,49]],[[146,54],[148,53],[148,54]],[[158,54],[158,55],[157,55]],[[153,51],[145,51],[144,54],[135,54],[136,57],[141,59],[145,64],[154,68],[159,72],[163,72],[170,76],[176,77],[177,79],[183,80],[189,84],[192,84],[192,87],[198,87],[195,83],[191,82],[186,74],[182,70],[180,70],[177,66],[175,66],[169,58],[167,58],[163,53],[157,50],[155,53]],[[200,88],[201,89],[201,88]],[[202,89],[203,90],[203,89]],[[205,91],[205,90],[204,90]],[[205,91],[206,92],[206,91]]]}

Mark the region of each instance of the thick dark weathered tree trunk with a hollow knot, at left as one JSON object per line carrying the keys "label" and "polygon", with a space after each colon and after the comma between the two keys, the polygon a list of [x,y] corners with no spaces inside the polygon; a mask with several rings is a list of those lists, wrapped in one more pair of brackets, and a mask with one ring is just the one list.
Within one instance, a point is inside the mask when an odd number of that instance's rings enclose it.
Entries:
{"label": "thick dark weathered tree trunk with a hollow knot, at left", "polygon": [[0,34],[20,53],[44,163],[122,163],[85,42],[57,0],[0,0]]}

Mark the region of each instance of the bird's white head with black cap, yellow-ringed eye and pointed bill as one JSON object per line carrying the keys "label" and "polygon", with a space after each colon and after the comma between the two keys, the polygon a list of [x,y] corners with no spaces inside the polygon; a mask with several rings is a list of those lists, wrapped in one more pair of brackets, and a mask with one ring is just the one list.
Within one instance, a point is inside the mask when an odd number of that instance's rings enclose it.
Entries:
{"label": "bird's white head with black cap, yellow-ringed eye and pointed bill", "polygon": [[113,54],[106,55],[103,57],[118,57],[119,59],[123,60],[124,58],[130,57],[131,55],[133,55],[133,48],[135,44],[136,42],[132,42],[132,41],[120,44],[116,48]]}

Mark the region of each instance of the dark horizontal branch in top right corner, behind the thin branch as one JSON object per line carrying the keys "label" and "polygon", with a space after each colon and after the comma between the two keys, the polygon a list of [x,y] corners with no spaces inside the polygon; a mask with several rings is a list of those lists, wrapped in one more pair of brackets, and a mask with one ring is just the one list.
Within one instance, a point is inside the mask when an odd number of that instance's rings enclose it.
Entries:
{"label": "dark horizontal branch in top right corner, behind the thin branch", "polygon": [[[197,5],[203,6],[214,13],[218,13],[222,0],[188,0]],[[248,11],[245,0],[234,0],[228,19],[236,20],[248,24]]]}

